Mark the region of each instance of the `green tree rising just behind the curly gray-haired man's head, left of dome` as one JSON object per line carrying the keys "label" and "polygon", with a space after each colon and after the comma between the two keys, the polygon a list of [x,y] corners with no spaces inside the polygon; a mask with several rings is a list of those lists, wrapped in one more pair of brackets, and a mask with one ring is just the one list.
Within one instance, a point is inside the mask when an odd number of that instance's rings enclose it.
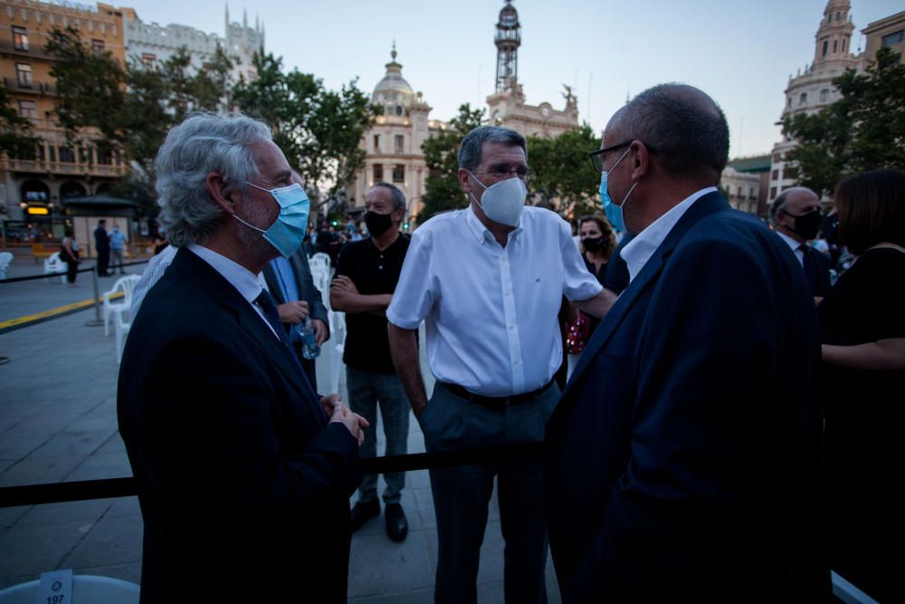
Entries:
{"label": "green tree rising just behind the curly gray-haired man's head, left of dome", "polygon": [[329,91],[310,73],[284,72],[281,57],[271,53],[255,53],[253,64],[257,79],[240,81],[233,103],[271,126],[273,141],[306,187],[326,187],[326,197],[334,197],[365,165],[358,145],[376,108],[356,81]]}

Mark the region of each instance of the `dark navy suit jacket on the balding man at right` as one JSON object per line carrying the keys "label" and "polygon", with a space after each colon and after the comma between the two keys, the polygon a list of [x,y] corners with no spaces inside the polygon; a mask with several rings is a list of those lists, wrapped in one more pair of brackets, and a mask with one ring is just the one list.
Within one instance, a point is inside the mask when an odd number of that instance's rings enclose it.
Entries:
{"label": "dark navy suit jacket on the balding man at right", "polygon": [[550,418],[564,601],[814,601],[829,586],[814,302],[719,193],[681,217]]}

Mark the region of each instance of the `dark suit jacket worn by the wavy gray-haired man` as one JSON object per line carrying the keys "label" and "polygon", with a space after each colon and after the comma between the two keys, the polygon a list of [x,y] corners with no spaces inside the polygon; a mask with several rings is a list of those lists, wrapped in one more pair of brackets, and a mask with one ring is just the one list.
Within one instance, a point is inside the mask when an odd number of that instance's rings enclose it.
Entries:
{"label": "dark suit jacket worn by the wavy gray-haired man", "polygon": [[145,302],[117,395],[145,522],[141,601],[345,601],[355,438],[192,252]]}

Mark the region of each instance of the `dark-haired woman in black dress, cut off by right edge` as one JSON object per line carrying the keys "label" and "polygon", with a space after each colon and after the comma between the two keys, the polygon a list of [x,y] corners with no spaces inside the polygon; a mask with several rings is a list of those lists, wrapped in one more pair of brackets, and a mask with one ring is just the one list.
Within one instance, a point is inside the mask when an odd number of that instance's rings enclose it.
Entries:
{"label": "dark-haired woman in black dress, cut off by right edge", "polygon": [[905,601],[898,495],[905,420],[905,172],[835,191],[839,243],[857,256],[817,307],[826,376],[830,565],[880,601]]}

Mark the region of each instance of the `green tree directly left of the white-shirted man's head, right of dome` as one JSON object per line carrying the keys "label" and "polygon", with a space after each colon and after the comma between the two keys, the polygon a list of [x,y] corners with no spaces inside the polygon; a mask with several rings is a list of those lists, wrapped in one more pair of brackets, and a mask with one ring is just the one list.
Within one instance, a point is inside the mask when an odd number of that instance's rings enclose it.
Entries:
{"label": "green tree directly left of the white-shirted man's head, right of dome", "polygon": [[472,110],[468,103],[459,107],[459,115],[450,120],[447,128],[424,141],[424,163],[427,178],[424,179],[424,206],[418,214],[418,224],[442,212],[466,205],[459,187],[459,146],[462,138],[472,129],[481,126],[484,110]]}

